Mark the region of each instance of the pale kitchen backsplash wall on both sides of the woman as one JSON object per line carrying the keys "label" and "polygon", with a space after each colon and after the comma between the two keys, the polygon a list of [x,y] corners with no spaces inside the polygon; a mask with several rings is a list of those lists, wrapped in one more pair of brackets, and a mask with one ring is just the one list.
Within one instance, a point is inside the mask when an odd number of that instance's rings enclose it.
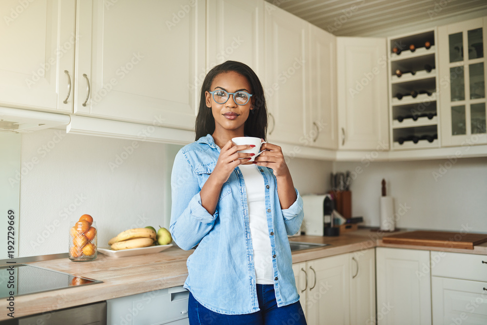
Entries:
{"label": "pale kitchen backsplash wall on both sides of the woman", "polygon": [[[91,214],[98,244],[133,227],[169,228],[170,174],[181,148],[143,141],[44,130],[22,134],[19,256],[68,250],[69,222]],[[445,171],[440,169],[445,166]],[[332,171],[363,170],[351,190],[353,214],[379,225],[380,180],[388,181],[396,209],[407,208],[401,228],[487,232],[487,158],[413,162],[329,162],[288,160],[296,188],[304,193],[330,189]],[[440,176],[433,176],[438,172]]]}

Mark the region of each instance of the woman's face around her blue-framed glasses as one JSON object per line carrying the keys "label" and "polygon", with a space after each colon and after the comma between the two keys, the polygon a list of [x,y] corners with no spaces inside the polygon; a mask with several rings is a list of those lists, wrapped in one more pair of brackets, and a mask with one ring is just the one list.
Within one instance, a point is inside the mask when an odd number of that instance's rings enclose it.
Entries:
{"label": "woman's face around her blue-framed glasses", "polygon": [[[230,71],[217,75],[211,84],[210,90],[225,90],[228,93],[244,91],[252,94],[250,84],[244,76]],[[231,131],[232,133],[241,133],[244,135],[244,124],[252,107],[250,99],[245,105],[237,105],[233,95],[229,95],[225,104],[219,104],[213,96],[206,92],[206,107],[211,108],[213,118],[215,119],[215,132]]]}

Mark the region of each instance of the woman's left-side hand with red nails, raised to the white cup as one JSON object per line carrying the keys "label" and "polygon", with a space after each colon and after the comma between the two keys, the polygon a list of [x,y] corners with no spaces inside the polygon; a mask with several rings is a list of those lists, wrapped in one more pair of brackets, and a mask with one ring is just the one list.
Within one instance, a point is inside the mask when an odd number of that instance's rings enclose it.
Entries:
{"label": "woman's left-side hand with red nails, raised to the white cup", "polygon": [[[223,185],[230,177],[235,167],[244,164],[250,160],[253,153],[238,153],[238,151],[247,150],[254,145],[240,145],[237,146],[232,140],[229,140],[225,146],[220,150],[220,155],[216,162],[215,169],[211,173],[213,178]],[[244,159],[239,159],[244,158]]]}

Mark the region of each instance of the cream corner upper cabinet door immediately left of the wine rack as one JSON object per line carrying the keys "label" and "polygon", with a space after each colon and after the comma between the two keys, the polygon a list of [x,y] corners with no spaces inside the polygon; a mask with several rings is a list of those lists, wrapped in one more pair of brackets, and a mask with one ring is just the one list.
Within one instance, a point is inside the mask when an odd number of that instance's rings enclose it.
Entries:
{"label": "cream corner upper cabinet door immediately left of the wine rack", "polygon": [[338,148],[389,149],[384,38],[337,38]]}

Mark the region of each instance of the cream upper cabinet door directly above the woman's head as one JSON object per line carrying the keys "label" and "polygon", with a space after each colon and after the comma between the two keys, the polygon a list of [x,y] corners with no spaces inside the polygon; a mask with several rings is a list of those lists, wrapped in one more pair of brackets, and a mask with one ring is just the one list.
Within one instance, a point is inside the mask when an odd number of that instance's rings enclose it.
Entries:
{"label": "cream upper cabinet door directly above the woman's head", "polygon": [[206,69],[226,60],[248,65],[263,82],[264,1],[208,1]]}

